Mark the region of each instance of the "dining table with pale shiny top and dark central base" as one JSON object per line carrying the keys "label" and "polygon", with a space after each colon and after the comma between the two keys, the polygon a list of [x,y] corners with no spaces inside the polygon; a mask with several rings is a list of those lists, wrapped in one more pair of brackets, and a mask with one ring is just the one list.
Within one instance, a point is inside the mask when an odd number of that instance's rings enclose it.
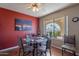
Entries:
{"label": "dining table with pale shiny top and dark central base", "polygon": [[[24,38],[24,41],[26,41],[27,39]],[[32,37],[30,39],[30,44],[32,44],[33,46],[33,56],[37,55],[37,48],[38,48],[38,45],[40,45],[42,42],[44,42],[44,37]]]}

